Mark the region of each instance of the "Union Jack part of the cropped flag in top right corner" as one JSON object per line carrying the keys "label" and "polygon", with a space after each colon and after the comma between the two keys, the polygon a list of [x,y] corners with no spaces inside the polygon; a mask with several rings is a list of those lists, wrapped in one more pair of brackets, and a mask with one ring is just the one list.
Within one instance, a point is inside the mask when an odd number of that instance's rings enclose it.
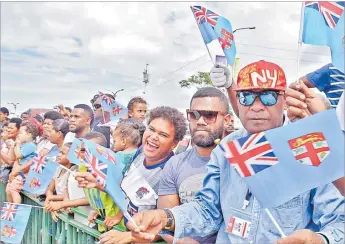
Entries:
{"label": "Union Jack part of the cropped flag in top right corner", "polygon": [[344,2],[305,2],[305,7],[319,11],[326,24],[334,29],[344,11]]}

